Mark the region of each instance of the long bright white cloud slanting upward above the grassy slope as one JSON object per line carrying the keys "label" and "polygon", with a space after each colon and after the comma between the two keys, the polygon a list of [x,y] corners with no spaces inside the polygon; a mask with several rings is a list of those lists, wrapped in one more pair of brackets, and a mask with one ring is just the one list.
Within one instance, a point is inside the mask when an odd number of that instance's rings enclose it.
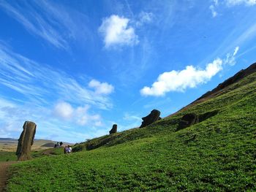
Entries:
{"label": "long bright white cloud slanting upward above the grassy slope", "polygon": [[143,96],[164,96],[170,91],[185,91],[187,88],[195,88],[211,80],[218,72],[222,70],[225,64],[236,64],[235,55],[239,47],[236,47],[233,54],[228,53],[225,60],[215,59],[212,63],[206,65],[206,69],[198,69],[195,66],[187,66],[181,71],[164,72],[159,75],[157,81],[151,87],[144,87],[140,90]]}

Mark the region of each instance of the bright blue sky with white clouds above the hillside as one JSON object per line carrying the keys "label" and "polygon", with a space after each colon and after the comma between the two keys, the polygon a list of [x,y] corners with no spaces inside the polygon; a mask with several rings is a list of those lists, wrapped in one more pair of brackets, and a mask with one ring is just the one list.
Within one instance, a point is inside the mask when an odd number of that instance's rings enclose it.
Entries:
{"label": "bright blue sky with white clouds above the hillside", "polygon": [[256,61],[256,0],[0,0],[0,137],[83,142]]}

